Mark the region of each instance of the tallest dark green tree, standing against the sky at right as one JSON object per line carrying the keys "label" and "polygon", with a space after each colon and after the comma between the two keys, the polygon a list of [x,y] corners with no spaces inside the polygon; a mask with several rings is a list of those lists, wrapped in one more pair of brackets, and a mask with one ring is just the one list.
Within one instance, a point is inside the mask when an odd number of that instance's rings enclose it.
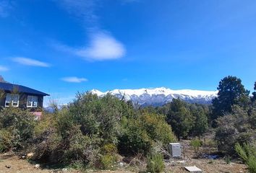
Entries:
{"label": "tallest dark green tree, standing against the sky at right", "polygon": [[249,99],[249,91],[244,89],[241,79],[236,76],[227,76],[218,84],[218,97],[213,99],[213,120],[231,112],[233,105],[243,104]]}

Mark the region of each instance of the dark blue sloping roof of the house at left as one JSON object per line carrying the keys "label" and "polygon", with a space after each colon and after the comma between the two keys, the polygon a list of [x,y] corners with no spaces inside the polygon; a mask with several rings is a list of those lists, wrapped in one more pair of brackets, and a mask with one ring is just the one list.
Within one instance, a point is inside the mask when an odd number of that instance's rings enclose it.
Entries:
{"label": "dark blue sloping roof of the house at left", "polygon": [[4,82],[0,82],[0,89],[4,89],[4,91],[8,91],[8,92],[12,92],[12,91],[14,91],[14,89],[17,89],[18,92],[23,92],[23,93],[27,93],[27,94],[49,96],[49,94],[46,94],[44,92],[39,92],[38,90],[31,89],[27,86],[4,83]]}

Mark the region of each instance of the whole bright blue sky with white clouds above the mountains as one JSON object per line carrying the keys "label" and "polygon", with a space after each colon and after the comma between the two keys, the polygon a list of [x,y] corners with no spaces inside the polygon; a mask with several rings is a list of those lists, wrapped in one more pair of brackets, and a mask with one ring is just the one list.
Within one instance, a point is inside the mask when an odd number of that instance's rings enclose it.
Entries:
{"label": "whole bright blue sky with white clouds above the mountains", "polygon": [[216,90],[256,80],[255,0],[0,0],[0,74],[70,101],[77,91]]}

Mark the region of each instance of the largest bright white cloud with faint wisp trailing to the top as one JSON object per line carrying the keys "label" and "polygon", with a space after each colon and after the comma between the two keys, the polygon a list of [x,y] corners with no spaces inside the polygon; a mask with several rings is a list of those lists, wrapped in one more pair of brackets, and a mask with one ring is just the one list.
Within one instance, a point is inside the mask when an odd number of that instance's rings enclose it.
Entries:
{"label": "largest bright white cloud with faint wisp trailing to the top", "polygon": [[[59,50],[72,53],[74,56],[82,57],[90,61],[113,60],[125,56],[126,49],[124,44],[117,40],[110,32],[98,28],[98,16],[95,14],[98,0],[61,0],[57,1],[70,14],[78,17],[85,22],[90,23],[92,28],[88,32],[90,40],[88,44],[81,48],[73,48],[68,45],[55,45]],[[98,4],[97,4],[98,5]]]}

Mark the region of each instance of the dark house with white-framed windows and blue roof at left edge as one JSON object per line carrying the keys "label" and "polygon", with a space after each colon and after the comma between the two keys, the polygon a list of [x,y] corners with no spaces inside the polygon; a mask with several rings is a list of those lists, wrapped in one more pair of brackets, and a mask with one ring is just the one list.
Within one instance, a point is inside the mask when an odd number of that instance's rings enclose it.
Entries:
{"label": "dark house with white-framed windows and blue roof at left edge", "polygon": [[12,106],[28,109],[31,112],[40,112],[45,96],[49,96],[49,94],[27,86],[0,81],[0,107]]}

